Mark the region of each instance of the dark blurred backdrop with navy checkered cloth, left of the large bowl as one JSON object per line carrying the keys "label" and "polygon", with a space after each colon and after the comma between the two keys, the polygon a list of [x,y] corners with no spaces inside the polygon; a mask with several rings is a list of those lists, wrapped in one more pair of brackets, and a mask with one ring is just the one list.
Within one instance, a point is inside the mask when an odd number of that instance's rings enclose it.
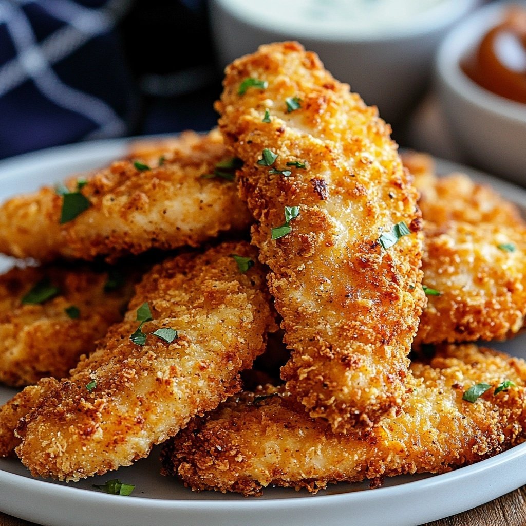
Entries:
{"label": "dark blurred backdrop with navy checkered cloth, left of the large bowl", "polygon": [[0,158],[214,126],[205,0],[0,0]]}

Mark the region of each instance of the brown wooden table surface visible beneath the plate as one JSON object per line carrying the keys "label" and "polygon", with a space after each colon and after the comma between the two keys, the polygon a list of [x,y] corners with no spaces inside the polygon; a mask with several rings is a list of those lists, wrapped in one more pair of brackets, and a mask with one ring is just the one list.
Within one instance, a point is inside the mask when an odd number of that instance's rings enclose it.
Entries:
{"label": "brown wooden table surface visible beneath the plate", "polygon": [[[0,526],[34,526],[34,523],[0,512]],[[526,526],[526,486],[473,510],[423,526]]]}

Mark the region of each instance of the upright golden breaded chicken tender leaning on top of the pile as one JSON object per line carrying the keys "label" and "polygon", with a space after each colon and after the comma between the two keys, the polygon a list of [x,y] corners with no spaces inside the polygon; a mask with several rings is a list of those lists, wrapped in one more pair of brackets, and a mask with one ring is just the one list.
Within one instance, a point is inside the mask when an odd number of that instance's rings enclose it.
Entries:
{"label": "upright golden breaded chicken tender leaning on top of the pile", "polygon": [[216,109],[292,349],[287,388],[335,430],[370,424],[405,396],[424,303],[417,192],[390,127],[293,42],[228,66]]}

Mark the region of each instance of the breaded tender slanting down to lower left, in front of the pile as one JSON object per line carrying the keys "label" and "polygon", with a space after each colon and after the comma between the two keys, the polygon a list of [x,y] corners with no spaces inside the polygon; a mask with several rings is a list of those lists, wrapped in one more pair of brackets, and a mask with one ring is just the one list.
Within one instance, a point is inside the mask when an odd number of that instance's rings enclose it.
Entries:
{"label": "breaded tender slanting down to lower left, in front of the pile", "polygon": [[125,320],[20,421],[16,452],[34,476],[128,466],[239,389],[275,321],[264,269],[242,273],[232,255],[257,259],[230,242],[145,275]]}

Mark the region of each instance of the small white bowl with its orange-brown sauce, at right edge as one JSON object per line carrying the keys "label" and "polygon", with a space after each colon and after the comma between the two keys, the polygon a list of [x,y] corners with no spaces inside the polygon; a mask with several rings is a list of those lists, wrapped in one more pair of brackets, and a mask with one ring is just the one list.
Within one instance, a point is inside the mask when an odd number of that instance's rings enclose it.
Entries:
{"label": "small white bowl with its orange-brown sauce, at right edge", "polygon": [[440,107],[465,160],[525,185],[526,2],[490,4],[454,28],[439,48],[436,74]]}

